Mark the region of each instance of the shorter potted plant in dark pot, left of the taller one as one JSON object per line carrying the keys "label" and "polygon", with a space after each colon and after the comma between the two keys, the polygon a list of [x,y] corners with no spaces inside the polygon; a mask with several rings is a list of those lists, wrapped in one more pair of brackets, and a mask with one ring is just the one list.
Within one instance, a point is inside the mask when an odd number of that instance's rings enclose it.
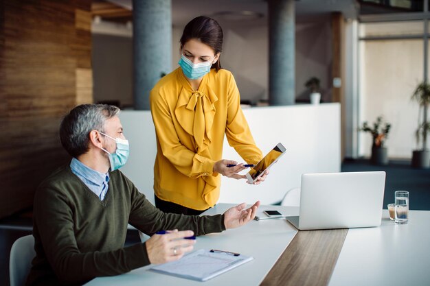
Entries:
{"label": "shorter potted plant in dark pot, left of the taller one", "polygon": [[388,152],[387,148],[384,147],[384,143],[388,138],[390,129],[391,124],[384,121],[382,116],[376,118],[376,121],[373,123],[373,128],[369,126],[367,121],[365,121],[360,128],[360,131],[370,132],[370,134],[372,134],[372,157],[370,161],[374,165],[388,164]]}

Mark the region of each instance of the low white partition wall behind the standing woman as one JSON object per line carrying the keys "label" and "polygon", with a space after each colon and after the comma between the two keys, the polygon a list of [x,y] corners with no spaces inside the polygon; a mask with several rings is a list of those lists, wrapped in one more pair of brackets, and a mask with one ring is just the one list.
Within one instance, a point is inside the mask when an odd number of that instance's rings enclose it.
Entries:
{"label": "low white partition wall behind the standing woman", "polygon": [[[260,186],[223,177],[219,202],[261,200],[273,204],[280,202],[288,189],[300,186],[303,173],[340,171],[340,104],[258,107],[243,112],[264,154],[279,142],[287,151]],[[150,112],[126,110],[120,113],[120,119],[130,142],[130,158],[122,171],[153,203],[157,144]],[[223,158],[242,162],[226,139]]]}

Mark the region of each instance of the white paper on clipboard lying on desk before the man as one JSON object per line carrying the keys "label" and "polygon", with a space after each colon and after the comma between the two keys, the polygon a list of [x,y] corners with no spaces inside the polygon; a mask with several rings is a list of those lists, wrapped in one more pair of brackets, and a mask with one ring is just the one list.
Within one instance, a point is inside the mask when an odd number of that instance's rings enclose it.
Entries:
{"label": "white paper on clipboard lying on desk before the man", "polygon": [[196,281],[207,281],[252,259],[253,257],[242,254],[235,257],[225,252],[201,249],[186,254],[177,261],[152,267],[150,270]]}

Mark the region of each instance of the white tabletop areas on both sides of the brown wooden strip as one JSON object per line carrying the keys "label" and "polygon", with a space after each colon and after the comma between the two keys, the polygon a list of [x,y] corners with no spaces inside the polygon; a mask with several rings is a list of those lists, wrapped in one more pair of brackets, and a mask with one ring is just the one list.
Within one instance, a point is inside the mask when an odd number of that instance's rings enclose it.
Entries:
{"label": "white tabletop areas on both sides of the brown wooden strip", "polygon": [[[218,204],[208,214],[223,213],[231,204]],[[260,206],[284,215],[298,208]],[[251,255],[245,265],[205,282],[205,285],[260,285],[295,236],[284,219],[252,221],[242,228],[198,237],[195,249],[229,250]],[[127,274],[95,278],[87,285],[202,285],[201,282],[149,272],[148,267]],[[343,243],[329,286],[430,285],[430,211],[409,211],[409,223],[395,224],[383,210],[380,227],[351,228]]]}

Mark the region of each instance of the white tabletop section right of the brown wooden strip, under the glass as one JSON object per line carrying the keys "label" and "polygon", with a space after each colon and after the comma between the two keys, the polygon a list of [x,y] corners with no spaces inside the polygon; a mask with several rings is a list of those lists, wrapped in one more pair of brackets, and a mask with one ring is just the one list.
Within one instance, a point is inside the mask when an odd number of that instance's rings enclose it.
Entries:
{"label": "white tabletop section right of the brown wooden strip, under the glass", "polygon": [[351,228],[329,286],[429,286],[430,211],[409,211],[395,224],[383,210],[378,228]]}

